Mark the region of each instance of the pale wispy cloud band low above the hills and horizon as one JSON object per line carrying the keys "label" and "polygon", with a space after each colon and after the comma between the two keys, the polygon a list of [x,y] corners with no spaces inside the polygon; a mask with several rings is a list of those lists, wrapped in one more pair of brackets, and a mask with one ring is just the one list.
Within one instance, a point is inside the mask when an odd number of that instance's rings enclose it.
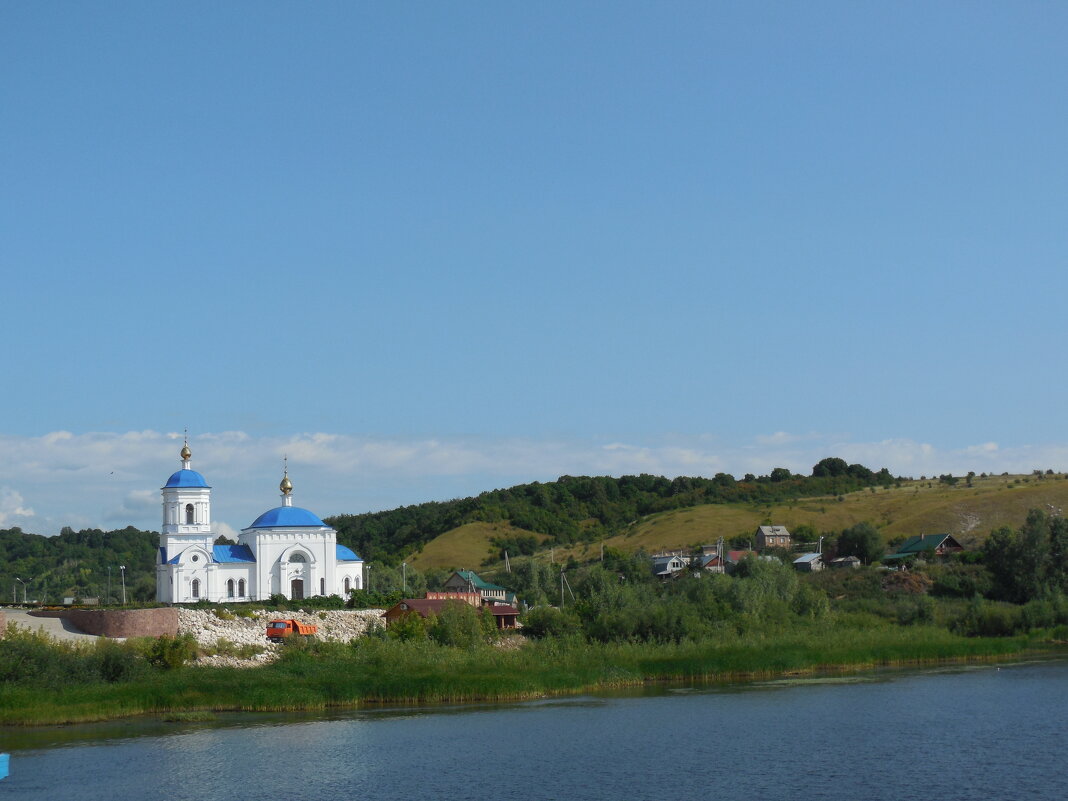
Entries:
{"label": "pale wispy cloud band low above the hills and horizon", "polygon": [[[70,524],[159,525],[159,487],[178,469],[182,434],[53,431],[0,436],[0,524],[56,533]],[[827,456],[895,474],[1031,472],[1068,467],[1068,444],[939,447],[908,438],[873,442],[776,431],[727,442],[711,435],[646,441],[488,437],[389,438],[331,433],[256,437],[221,431],[190,438],[193,467],[215,487],[214,516],[233,536],[279,503],[282,457],[296,499],[320,514],[443,500],[560,475],[807,474]]]}

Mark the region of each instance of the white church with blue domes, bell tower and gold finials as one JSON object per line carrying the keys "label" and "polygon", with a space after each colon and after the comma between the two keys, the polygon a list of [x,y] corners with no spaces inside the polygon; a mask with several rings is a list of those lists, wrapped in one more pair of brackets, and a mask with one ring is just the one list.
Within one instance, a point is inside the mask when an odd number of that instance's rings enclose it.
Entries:
{"label": "white church with blue domes, bell tower and gold finials", "polygon": [[211,487],[190,467],[182,447],[182,469],[167,480],[163,528],[156,556],[156,600],[162,603],[266,600],[284,595],[300,600],[363,588],[363,561],[337,532],[308,509],[293,505],[293,483],[283,472],[282,505],[268,509],[237,538],[215,545]]}

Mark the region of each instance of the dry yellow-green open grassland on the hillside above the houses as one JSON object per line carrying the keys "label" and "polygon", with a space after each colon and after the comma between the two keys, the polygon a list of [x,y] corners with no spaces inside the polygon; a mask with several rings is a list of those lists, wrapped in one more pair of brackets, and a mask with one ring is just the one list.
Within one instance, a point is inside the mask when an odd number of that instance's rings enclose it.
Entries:
{"label": "dry yellow-green open grassland on the hillside above the houses", "polygon": [[[820,532],[837,532],[854,523],[874,524],[889,541],[913,534],[951,533],[965,547],[979,547],[991,530],[1018,527],[1035,507],[1059,512],[1068,506],[1068,481],[1062,476],[976,477],[968,487],[906,482],[900,487],[865,489],[838,497],[803,498],[781,503],[716,503],[663,512],[606,537],[606,547],[624,552],[681,549],[752,534],[757,525],[795,529],[807,523]],[[842,498],[839,501],[838,498]],[[489,557],[491,537],[530,534],[506,523],[469,523],[433,539],[412,563],[421,568],[473,567]],[[543,537],[545,539],[545,537]],[[591,559],[599,543],[555,546],[556,561],[574,555]]]}

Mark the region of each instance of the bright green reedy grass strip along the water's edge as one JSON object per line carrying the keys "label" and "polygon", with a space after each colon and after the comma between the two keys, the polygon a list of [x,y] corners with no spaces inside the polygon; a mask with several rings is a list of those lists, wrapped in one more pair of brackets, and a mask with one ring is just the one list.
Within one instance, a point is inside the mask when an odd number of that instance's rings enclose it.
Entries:
{"label": "bright green reedy grass strip along the water's edge", "polygon": [[827,669],[1002,659],[1043,647],[1036,637],[963,638],[928,626],[813,625],[661,645],[545,640],[512,649],[362,639],[289,648],[280,661],[249,670],[186,666],[152,671],[137,680],[64,687],[4,682],[0,724],[508,701],[656,681],[731,681]]}

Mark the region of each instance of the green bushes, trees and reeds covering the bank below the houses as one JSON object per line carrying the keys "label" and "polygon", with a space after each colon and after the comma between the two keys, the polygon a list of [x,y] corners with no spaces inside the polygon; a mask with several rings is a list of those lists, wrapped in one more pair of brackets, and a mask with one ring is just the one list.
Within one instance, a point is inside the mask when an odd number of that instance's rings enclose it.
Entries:
{"label": "green bushes, trees and reeds covering the bank below the houses", "polygon": [[[875,562],[881,545],[862,523],[836,548]],[[557,577],[530,560],[509,574],[509,588],[532,603],[522,635],[502,637],[486,610],[456,601],[348,642],[290,638],[279,659],[247,669],[197,664],[188,633],[80,645],[12,625],[0,641],[0,725],[519,701],[1010,659],[1068,642],[1068,520],[1059,514],[1033,509],[1020,529],[993,531],[981,552],[925,552],[895,569],[800,574],[789,560],[772,551],[741,559],[729,575],[687,570],[663,581],[647,555],[606,549],[563,568],[559,607],[549,606]],[[348,599],[361,603],[375,601],[365,591]],[[221,619],[247,611],[215,608]]]}

